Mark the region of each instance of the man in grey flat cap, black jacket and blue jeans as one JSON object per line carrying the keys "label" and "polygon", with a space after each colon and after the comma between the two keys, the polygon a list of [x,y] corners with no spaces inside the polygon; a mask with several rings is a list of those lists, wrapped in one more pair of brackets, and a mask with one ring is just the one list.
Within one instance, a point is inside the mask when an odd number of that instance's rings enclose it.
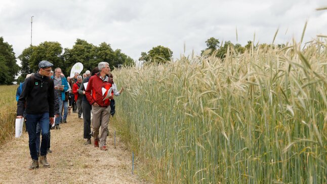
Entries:
{"label": "man in grey flat cap, black jacket and blue jeans", "polygon": [[[49,72],[53,64],[49,61],[38,63],[38,71],[33,73],[25,81],[25,85],[17,102],[17,117],[23,118],[24,109],[27,119],[28,129],[28,146],[32,163],[29,170],[36,169],[40,166],[50,167],[47,161],[47,148],[49,142],[49,122],[54,123],[54,83],[49,78]],[[26,102],[26,107],[25,107]],[[40,157],[38,161],[36,152],[36,125],[40,124],[42,140],[40,146]]]}

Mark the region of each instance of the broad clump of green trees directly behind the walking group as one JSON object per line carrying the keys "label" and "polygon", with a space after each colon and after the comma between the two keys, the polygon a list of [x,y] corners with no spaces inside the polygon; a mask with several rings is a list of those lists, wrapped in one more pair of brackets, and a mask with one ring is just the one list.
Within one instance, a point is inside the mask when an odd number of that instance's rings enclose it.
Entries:
{"label": "broad clump of green trees directly behind the walking group", "polygon": [[88,43],[85,40],[77,39],[71,49],[61,47],[58,42],[43,42],[38,46],[29,46],[18,56],[21,60],[21,76],[17,82],[23,81],[28,73],[38,69],[38,63],[48,60],[54,67],[60,67],[65,75],[70,74],[72,66],[80,62],[83,64],[83,72],[91,70],[99,62],[108,62],[111,70],[121,65],[134,65],[134,60],[122,53],[120,49],[113,50],[110,44],[105,42],[98,46]]}

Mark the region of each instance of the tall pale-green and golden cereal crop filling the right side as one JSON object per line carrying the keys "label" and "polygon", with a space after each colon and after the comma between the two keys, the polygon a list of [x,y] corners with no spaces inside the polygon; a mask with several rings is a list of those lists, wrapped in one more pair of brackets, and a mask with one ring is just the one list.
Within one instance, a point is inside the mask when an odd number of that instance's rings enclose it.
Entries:
{"label": "tall pale-green and golden cereal crop filling the right side", "polygon": [[326,183],[327,50],[302,48],[114,70],[120,133],[156,182]]}

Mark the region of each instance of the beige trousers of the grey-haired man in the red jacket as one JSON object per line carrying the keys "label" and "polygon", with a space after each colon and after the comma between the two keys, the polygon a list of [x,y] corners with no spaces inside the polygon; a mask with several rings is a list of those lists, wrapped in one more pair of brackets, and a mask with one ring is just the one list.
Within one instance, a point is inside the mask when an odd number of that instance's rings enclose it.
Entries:
{"label": "beige trousers of the grey-haired man in the red jacket", "polygon": [[110,106],[101,107],[92,105],[92,132],[93,138],[99,139],[99,128],[101,126],[100,147],[106,145],[107,130],[110,117]]}

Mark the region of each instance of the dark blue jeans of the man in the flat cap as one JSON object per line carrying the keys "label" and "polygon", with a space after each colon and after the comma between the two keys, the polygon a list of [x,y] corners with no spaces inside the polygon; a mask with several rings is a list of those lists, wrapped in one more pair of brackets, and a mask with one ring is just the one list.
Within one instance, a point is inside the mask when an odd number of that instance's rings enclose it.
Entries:
{"label": "dark blue jeans of the man in the flat cap", "polygon": [[36,152],[36,126],[39,123],[41,128],[42,140],[40,146],[40,155],[47,155],[48,143],[49,143],[49,113],[44,114],[26,114],[26,125],[28,129],[28,146],[29,153],[33,160],[38,160]]}

